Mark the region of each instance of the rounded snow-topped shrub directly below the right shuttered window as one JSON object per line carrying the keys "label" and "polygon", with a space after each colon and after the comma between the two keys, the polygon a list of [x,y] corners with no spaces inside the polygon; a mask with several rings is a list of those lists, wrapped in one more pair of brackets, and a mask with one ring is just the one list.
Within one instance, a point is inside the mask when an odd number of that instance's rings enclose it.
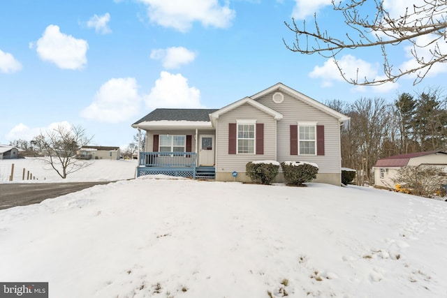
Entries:
{"label": "rounded snow-topped shrub directly below the right shuttered window", "polygon": [[316,178],[318,165],[301,161],[285,161],[281,163],[284,179],[288,185],[302,186]]}

